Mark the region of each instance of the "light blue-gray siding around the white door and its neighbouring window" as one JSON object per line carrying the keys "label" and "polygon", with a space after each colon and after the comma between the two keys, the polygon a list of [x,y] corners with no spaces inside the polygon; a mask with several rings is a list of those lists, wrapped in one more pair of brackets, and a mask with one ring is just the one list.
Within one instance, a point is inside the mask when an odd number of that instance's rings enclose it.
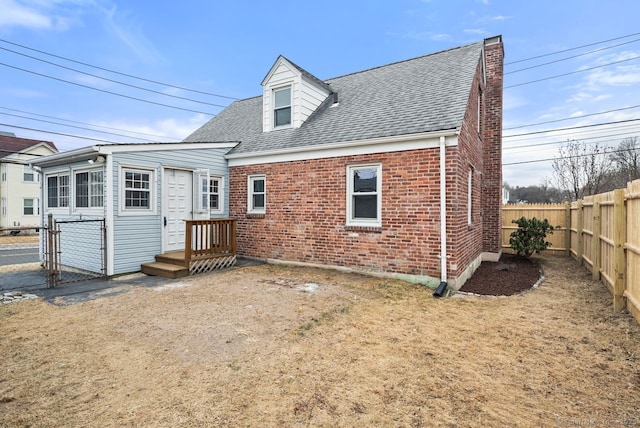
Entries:
{"label": "light blue-gray siding around the white door and its neighbouring window", "polygon": [[[224,177],[224,211],[212,217],[229,215],[229,174],[224,159],[228,148],[173,151],[119,152],[113,155],[113,250],[114,274],[135,272],[142,263],[154,261],[162,252],[162,169],[177,168],[191,171],[209,170],[210,175]],[[148,169],[154,172],[153,205],[155,212],[128,215],[120,209],[121,167]]]}

